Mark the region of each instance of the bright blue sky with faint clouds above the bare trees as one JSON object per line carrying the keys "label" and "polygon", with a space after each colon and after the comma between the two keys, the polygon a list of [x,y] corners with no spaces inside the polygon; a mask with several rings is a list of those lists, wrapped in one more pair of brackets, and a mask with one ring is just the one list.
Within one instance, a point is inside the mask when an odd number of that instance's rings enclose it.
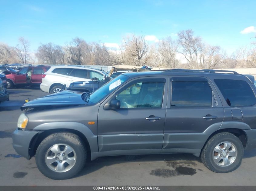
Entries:
{"label": "bright blue sky with faint clouds above the bare trees", "polygon": [[254,40],[255,7],[255,0],[0,0],[0,42],[15,46],[22,36],[35,51],[40,43],[64,45],[75,37],[121,43],[127,34],[142,33],[154,41],[192,29],[206,43],[232,53]]}

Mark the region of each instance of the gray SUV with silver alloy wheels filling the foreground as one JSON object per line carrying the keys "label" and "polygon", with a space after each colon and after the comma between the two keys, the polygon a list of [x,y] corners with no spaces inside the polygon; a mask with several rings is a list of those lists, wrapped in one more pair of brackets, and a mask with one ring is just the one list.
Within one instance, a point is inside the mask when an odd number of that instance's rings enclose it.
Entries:
{"label": "gray SUV with silver alloy wheels filling the foreground", "polygon": [[25,103],[13,147],[52,179],[101,156],[191,153],[218,173],[256,147],[254,77],[173,69],[124,73],[93,93],[63,91]]}

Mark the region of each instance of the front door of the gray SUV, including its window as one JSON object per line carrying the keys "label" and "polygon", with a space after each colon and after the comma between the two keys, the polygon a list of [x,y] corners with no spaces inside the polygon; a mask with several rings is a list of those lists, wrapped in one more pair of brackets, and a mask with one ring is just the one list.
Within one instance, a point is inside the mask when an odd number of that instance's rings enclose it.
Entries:
{"label": "front door of the gray SUV, including its window", "polygon": [[[151,149],[163,145],[168,77],[137,78],[101,104],[98,112],[99,151]],[[104,110],[109,100],[121,108]]]}

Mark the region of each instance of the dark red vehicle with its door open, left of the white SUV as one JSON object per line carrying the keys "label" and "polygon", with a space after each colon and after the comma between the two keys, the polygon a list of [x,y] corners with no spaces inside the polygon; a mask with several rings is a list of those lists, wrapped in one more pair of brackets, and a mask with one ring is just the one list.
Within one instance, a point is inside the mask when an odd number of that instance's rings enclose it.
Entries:
{"label": "dark red vehicle with its door open, left of the white SUV", "polygon": [[9,72],[5,74],[7,78],[7,89],[14,85],[40,85],[42,83],[42,75],[50,66],[25,67],[19,72]]}

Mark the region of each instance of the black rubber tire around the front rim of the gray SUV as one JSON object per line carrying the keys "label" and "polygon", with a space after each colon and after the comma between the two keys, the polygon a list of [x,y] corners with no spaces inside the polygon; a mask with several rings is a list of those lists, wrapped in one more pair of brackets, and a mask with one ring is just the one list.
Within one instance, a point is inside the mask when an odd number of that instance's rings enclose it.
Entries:
{"label": "black rubber tire around the front rim of the gray SUV", "polygon": [[[75,164],[66,172],[53,171],[45,162],[48,149],[56,144],[68,145],[75,151]],[[64,180],[75,176],[80,170],[82,170],[86,162],[86,156],[87,152],[85,145],[77,135],[69,132],[60,132],[49,135],[40,143],[36,150],[35,161],[40,172],[46,177],[55,180]]]}

